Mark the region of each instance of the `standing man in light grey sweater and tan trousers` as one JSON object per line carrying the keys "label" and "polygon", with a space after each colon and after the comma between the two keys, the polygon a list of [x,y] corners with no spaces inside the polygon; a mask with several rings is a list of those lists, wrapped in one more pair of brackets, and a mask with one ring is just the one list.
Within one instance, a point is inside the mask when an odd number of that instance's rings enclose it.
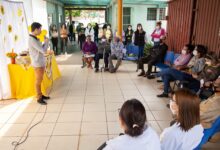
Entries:
{"label": "standing man in light grey sweater and tan trousers", "polygon": [[44,68],[46,65],[44,54],[46,53],[47,48],[43,48],[41,42],[37,39],[37,36],[41,34],[42,25],[38,22],[31,24],[31,34],[29,36],[28,47],[31,57],[31,65],[34,67],[35,76],[36,76],[36,93],[37,93],[37,102],[46,105],[44,101],[50,97],[44,96],[41,92],[41,83],[44,75]]}

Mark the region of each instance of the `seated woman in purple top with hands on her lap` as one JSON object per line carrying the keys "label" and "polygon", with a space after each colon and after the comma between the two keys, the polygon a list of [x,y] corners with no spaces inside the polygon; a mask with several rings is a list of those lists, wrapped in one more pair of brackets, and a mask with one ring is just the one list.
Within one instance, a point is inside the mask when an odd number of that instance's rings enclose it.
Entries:
{"label": "seated woman in purple top with hands on her lap", "polygon": [[83,45],[83,61],[87,63],[87,67],[92,69],[92,61],[97,52],[97,46],[91,41],[91,36],[88,35],[86,42]]}

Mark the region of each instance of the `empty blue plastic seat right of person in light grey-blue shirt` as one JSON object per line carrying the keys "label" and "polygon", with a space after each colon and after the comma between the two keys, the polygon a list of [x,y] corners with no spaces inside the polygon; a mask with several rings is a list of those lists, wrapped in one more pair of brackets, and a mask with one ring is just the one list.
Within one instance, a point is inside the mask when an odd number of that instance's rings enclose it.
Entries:
{"label": "empty blue plastic seat right of person in light grey-blue shirt", "polygon": [[[138,46],[128,45],[126,49],[127,49],[127,55],[124,58],[125,60],[131,60],[131,61],[138,60],[138,54],[139,54]],[[129,56],[130,54],[132,54],[133,56]]]}

